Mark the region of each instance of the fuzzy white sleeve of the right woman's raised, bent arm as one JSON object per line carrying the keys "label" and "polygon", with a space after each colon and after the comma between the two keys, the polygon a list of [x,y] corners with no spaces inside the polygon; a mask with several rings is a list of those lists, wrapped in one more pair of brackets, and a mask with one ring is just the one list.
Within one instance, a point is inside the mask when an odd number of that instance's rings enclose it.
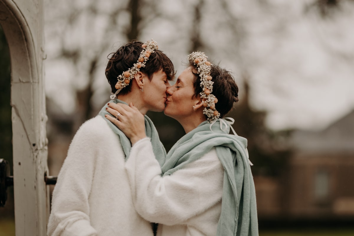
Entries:
{"label": "fuzzy white sleeve of the right woman's raised, bent arm", "polygon": [[156,223],[184,223],[222,197],[223,170],[218,160],[201,158],[172,175],[161,177],[148,139],[133,146],[126,170],[137,212]]}

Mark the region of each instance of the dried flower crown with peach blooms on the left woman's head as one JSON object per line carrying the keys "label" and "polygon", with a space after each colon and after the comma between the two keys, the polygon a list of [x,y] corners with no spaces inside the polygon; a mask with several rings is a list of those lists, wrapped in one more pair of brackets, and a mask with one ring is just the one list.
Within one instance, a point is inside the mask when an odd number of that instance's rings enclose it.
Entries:
{"label": "dried flower crown with peach blooms on the left woman's head", "polygon": [[149,60],[150,55],[159,48],[157,42],[153,39],[148,40],[146,43],[141,45],[141,47],[143,50],[140,53],[137,63],[134,63],[133,67],[127,71],[124,71],[117,77],[118,82],[115,84],[115,88],[119,91],[129,85],[130,80],[133,79],[134,75],[140,71],[140,68],[145,67],[145,64]]}

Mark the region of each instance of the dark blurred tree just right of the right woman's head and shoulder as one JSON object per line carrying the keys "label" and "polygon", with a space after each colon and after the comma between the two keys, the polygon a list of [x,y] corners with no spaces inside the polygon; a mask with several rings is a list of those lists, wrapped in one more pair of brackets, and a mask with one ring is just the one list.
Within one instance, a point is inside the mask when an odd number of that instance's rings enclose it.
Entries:
{"label": "dark blurred tree just right of the right woman's head and shoulder", "polygon": [[265,126],[266,112],[250,107],[249,85],[245,81],[245,96],[227,116],[235,119],[236,133],[247,138],[250,160],[256,164],[252,167],[253,175],[281,177],[292,154],[286,142],[291,130],[274,132]]}

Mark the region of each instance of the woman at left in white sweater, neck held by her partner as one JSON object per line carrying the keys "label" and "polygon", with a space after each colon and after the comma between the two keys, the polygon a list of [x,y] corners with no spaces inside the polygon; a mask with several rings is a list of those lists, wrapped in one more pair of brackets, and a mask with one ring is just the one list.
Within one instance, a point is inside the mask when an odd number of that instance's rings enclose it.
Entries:
{"label": "woman at left in white sweater, neck held by her partner", "polygon": [[[111,54],[105,75],[114,93],[109,103],[133,102],[141,115],[164,110],[168,81],[175,71],[171,60],[150,40],[121,46]],[[150,222],[134,209],[124,169],[131,143],[104,119],[109,114],[106,108],[107,104],[81,125],[70,144],[53,191],[47,235],[153,236]],[[166,151],[151,120],[147,116],[142,120],[162,165]]]}

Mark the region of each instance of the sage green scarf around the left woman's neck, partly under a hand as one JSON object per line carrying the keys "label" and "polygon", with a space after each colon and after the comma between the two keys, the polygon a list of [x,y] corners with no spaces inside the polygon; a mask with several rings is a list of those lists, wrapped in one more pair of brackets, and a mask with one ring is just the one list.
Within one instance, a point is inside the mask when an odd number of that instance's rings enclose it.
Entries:
{"label": "sage green scarf around the left woman's neck, partly under a hand", "polygon": [[[119,99],[114,99],[110,100],[109,103],[124,103],[128,105],[127,103],[119,100]],[[125,136],[125,134],[117,127],[115,126],[112,122],[110,122],[108,119],[104,117],[104,115],[111,115],[108,111],[106,111],[106,107],[108,107],[107,103],[104,105],[104,107],[101,109],[101,111],[98,113],[98,115],[101,115],[105,121],[107,121],[108,126],[113,130],[114,133],[118,134],[120,138],[120,142],[123,147],[123,151],[125,154],[125,159],[129,157],[130,149],[131,149],[131,143],[129,138]],[[159,134],[153,124],[153,122],[150,120],[148,116],[145,117],[145,133],[146,136],[151,139],[151,143],[153,146],[153,151],[156,157],[156,160],[159,162],[160,166],[165,162],[165,157],[166,157],[166,150],[164,148],[164,145],[162,145],[160,139],[159,139]]]}

